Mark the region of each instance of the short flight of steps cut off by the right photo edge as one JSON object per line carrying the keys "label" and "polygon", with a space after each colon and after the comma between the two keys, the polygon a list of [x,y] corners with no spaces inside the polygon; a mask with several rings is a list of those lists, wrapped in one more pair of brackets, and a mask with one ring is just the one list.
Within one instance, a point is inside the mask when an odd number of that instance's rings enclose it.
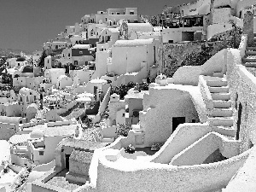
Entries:
{"label": "short flight of steps cut off by the right photo edge", "polygon": [[254,33],[254,45],[247,47],[241,61],[245,67],[256,67],[256,33]]}

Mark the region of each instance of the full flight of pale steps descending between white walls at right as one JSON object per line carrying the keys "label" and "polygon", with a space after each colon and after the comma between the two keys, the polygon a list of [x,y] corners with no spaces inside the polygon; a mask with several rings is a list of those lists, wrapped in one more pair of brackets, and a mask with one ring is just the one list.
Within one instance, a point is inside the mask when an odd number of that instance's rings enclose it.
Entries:
{"label": "full flight of pale steps descending between white walls at right", "polygon": [[[215,77],[214,77],[215,76]],[[209,125],[224,129],[233,129],[233,111],[231,108],[229,85],[224,75],[213,73],[207,78],[207,86],[212,96],[213,108],[208,113]]]}

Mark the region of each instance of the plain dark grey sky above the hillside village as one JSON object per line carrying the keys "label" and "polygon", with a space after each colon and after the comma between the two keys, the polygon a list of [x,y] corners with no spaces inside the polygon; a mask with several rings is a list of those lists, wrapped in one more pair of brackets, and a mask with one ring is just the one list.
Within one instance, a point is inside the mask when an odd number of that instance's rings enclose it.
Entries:
{"label": "plain dark grey sky above the hillside village", "polygon": [[[191,0],[192,1],[192,0]],[[189,0],[1,0],[0,48],[41,49],[45,41],[86,14],[108,8],[137,7],[140,15],[157,15],[165,5]]]}

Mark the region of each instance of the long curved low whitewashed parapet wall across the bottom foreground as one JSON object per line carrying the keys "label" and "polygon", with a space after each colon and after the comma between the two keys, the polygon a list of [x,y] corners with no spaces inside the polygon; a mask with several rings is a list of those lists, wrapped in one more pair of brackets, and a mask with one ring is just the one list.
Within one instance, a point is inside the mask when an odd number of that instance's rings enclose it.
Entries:
{"label": "long curved low whitewashed parapet wall across the bottom foreground", "polygon": [[[98,191],[212,191],[224,188],[247,159],[248,152],[229,160],[199,166],[169,166],[139,160],[109,161],[100,157]],[[130,166],[126,166],[126,165]],[[85,191],[85,190],[80,190]]]}

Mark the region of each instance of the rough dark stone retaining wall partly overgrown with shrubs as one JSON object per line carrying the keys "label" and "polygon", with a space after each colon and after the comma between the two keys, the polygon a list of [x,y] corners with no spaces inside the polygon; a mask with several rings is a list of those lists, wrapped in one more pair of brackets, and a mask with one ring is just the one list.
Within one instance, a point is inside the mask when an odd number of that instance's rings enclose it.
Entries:
{"label": "rough dark stone retaining wall partly overgrown with shrubs", "polygon": [[236,26],[214,35],[207,42],[163,44],[159,48],[159,73],[172,77],[178,67],[201,66],[221,49],[238,48],[240,40],[241,28]]}

